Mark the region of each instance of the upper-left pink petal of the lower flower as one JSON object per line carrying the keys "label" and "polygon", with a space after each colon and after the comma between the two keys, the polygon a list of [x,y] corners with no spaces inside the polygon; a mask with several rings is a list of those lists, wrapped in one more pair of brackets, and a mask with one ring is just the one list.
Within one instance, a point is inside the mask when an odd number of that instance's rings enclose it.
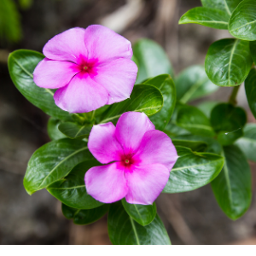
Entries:
{"label": "upper-left pink petal of the lower flower", "polygon": [[114,137],[115,126],[112,123],[94,125],[90,131],[88,148],[90,153],[101,162],[108,164],[121,160],[123,148]]}

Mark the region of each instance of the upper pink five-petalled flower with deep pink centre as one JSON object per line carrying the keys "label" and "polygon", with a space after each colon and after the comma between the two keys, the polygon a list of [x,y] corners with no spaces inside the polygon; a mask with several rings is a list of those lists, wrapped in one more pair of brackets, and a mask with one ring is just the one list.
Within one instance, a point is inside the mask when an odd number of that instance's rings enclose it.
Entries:
{"label": "upper pink five-petalled flower with deep pink centre", "polygon": [[137,78],[131,43],[107,27],[75,27],[51,38],[34,70],[39,87],[57,89],[55,104],[84,113],[129,98]]}

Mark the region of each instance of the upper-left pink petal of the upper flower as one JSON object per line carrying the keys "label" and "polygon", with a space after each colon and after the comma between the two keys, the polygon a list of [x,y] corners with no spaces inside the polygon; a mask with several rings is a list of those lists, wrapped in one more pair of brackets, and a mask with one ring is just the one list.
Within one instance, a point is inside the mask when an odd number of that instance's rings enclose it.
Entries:
{"label": "upper-left pink petal of the upper flower", "polygon": [[84,28],[74,27],[56,35],[44,45],[44,55],[51,60],[79,63],[81,55],[85,59],[88,55],[84,44],[84,33]]}

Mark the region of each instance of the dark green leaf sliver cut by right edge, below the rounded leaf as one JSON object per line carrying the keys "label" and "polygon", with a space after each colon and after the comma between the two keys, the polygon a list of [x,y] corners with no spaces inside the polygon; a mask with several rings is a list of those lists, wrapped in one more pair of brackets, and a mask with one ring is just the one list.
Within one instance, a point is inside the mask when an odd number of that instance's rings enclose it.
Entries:
{"label": "dark green leaf sliver cut by right edge, below the rounded leaf", "polygon": [[247,101],[251,111],[256,119],[256,69],[252,68],[247,79],[245,80],[245,90],[247,94]]}

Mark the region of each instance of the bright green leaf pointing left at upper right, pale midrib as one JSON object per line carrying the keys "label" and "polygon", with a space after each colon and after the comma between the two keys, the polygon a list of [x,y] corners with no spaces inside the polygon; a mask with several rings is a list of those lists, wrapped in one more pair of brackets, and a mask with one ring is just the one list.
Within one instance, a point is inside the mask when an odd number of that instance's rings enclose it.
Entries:
{"label": "bright green leaf pointing left at upper right, pale midrib", "polygon": [[196,7],[189,9],[178,21],[178,24],[195,23],[216,29],[228,29],[230,15],[220,9]]}

